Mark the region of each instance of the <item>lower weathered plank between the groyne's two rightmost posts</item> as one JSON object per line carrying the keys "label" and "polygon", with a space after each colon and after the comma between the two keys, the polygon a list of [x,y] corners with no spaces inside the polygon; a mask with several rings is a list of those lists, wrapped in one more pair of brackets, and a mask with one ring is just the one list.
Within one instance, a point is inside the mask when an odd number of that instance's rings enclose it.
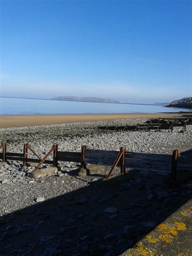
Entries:
{"label": "lower weathered plank between the groyne's two rightmost posts", "polygon": [[170,168],[171,169],[171,162],[163,162],[158,160],[145,160],[145,159],[133,159],[133,158],[126,158],[126,165],[128,164],[141,164],[141,165],[150,165],[150,166],[160,166],[161,168]]}

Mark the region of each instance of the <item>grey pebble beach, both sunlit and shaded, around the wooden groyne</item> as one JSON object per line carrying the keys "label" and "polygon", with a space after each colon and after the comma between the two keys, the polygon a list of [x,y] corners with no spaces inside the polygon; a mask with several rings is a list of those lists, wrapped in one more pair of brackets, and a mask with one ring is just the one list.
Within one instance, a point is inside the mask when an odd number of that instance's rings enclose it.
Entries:
{"label": "grey pebble beach, both sunlit and shaded, around the wooden groyne", "polygon": [[[53,144],[58,144],[60,151],[76,152],[81,145],[117,151],[125,146],[128,151],[169,155],[173,149],[179,149],[181,155],[191,149],[191,125],[186,133],[180,133],[181,127],[174,127],[173,132],[98,130],[98,126],[146,121],[1,128],[0,141],[8,144],[8,152],[15,153],[22,153],[23,143],[29,143],[41,157]],[[77,163],[60,162],[55,173],[33,179],[29,173],[35,166],[23,167],[17,161],[1,164],[0,255],[119,255],[192,194],[192,181],[164,186],[166,174],[155,172],[130,170],[120,176],[117,168],[106,181],[109,167],[101,166],[81,177]],[[20,239],[24,243],[19,243]]]}

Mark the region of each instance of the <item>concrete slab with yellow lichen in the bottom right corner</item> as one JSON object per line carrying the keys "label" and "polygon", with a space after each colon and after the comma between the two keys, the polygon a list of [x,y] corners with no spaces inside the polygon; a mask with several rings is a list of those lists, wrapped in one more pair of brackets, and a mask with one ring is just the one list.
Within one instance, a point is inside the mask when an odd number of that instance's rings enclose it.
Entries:
{"label": "concrete slab with yellow lichen in the bottom right corner", "polygon": [[192,200],[121,255],[191,256]]}

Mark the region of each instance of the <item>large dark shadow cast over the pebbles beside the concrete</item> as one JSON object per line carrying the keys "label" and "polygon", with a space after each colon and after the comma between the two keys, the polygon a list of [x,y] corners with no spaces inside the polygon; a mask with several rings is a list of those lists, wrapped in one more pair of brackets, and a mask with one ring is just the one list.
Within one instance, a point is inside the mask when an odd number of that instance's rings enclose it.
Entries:
{"label": "large dark shadow cast over the pebbles beside the concrete", "polygon": [[98,179],[2,216],[0,255],[119,255],[190,198],[185,184],[161,173]]}

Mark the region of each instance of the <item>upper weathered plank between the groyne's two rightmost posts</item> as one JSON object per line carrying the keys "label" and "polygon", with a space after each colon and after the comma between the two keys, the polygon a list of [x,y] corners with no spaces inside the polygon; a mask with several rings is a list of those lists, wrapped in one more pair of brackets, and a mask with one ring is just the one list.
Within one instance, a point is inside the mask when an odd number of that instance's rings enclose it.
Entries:
{"label": "upper weathered plank between the groyne's two rightmost posts", "polygon": [[148,160],[157,160],[157,161],[171,161],[172,155],[146,154],[146,153],[135,153],[135,152],[127,153],[126,152],[125,158],[148,159]]}

